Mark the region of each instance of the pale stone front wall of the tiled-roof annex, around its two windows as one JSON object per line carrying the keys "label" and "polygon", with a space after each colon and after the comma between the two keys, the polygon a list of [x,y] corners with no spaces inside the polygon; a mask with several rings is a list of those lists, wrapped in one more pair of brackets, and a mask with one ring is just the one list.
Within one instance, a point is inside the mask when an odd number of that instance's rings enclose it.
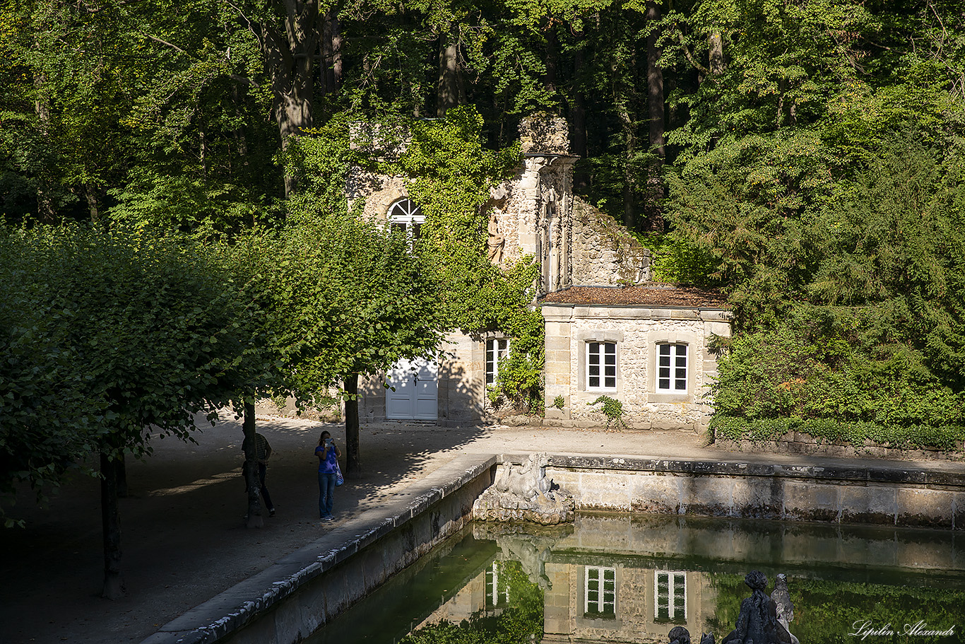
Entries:
{"label": "pale stone front wall of the tiled-roof annex, around its two windows", "polygon": [[[546,424],[599,427],[606,418],[599,396],[623,406],[623,422],[634,429],[703,431],[711,407],[704,399],[717,374],[716,357],[708,350],[711,335],[730,336],[727,312],[642,306],[581,306],[544,304],[546,321]],[[589,390],[586,343],[617,343],[617,388]],[[689,381],[685,396],[656,392],[656,343],[683,342],[688,346]],[[550,407],[562,396],[564,408]]]}

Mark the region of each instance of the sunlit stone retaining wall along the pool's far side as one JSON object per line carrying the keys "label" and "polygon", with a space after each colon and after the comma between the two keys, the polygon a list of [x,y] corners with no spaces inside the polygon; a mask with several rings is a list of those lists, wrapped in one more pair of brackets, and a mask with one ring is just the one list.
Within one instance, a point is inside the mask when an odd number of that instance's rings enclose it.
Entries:
{"label": "sunlit stone retaining wall along the pool's far side", "polygon": [[[504,457],[523,462],[523,455]],[[917,464],[818,466],[553,456],[576,509],[965,530],[965,473]]]}

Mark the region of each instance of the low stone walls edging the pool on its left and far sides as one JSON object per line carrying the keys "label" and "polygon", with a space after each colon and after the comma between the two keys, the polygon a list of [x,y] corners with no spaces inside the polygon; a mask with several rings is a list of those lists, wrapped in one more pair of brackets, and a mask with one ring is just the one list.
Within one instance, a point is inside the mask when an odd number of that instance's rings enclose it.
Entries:
{"label": "low stone walls edging the pool on its left and far sides", "polygon": [[[524,462],[528,456],[456,457],[396,493],[390,505],[345,521],[182,614],[141,644],[211,644],[239,634],[234,638],[238,642],[299,641],[455,534],[472,519],[472,503],[491,485],[494,466]],[[578,510],[965,529],[965,467],[552,455],[547,475],[564,488],[578,490]],[[915,512],[902,514],[902,507]],[[368,547],[390,534],[401,534],[399,540],[408,543],[401,549],[398,544],[380,551]],[[329,575],[337,578],[324,581],[324,588],[313,591],[308,586],[348,560],[356,566],[357,578]],[[296,594],[302,595],[297,606],[285,614],[277,610]],[[333,602],[331,596],[340,599]],[[273,619],[260,619],[269,612],[276,613]]]}

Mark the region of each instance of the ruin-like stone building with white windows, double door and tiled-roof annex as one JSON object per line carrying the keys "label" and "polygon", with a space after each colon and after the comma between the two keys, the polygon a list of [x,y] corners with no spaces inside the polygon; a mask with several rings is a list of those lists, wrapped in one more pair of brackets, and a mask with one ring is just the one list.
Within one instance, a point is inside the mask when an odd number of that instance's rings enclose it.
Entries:
{"label": "ruin-like stone building with white windows, double door and tiled-roof annex", "polygon": [[[729,336],[723,298],[653,285],[648,250],[612,217],[573,194],[565,121],[533,117],[520,124],[522,159],[515,176],[491,191],[491,262],[538,260],[538,301],[545,319],[547,424],[590,427],[605,418],[600,396],[620,401],[629,427],[706,426],[705,385],[716,362],[712,335]],[[364,198],[363,216],[418,236],[425,221],[401,177],[355,173],[349,200]],[[493,420],[486,387],[512,338],[451,334],[436,360],[403,361],[360,385],[362,418],[441,425]],[[383,381],[390,387],[383,386]]]}

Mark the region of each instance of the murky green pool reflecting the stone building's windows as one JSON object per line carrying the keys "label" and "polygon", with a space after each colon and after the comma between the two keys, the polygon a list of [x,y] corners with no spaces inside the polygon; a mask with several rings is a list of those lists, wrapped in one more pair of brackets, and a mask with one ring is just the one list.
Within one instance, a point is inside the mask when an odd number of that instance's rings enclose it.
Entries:
{"label": "murky green pool reflecting the stone building's windows", "polygon": [[720,642],[751,570],[768,593],[787,575],[803,644],[965,641],[963,535],[603,514],[552,528],[475,524],[306,641],[667,642],[683,626],[695,642],[707,631]]}

